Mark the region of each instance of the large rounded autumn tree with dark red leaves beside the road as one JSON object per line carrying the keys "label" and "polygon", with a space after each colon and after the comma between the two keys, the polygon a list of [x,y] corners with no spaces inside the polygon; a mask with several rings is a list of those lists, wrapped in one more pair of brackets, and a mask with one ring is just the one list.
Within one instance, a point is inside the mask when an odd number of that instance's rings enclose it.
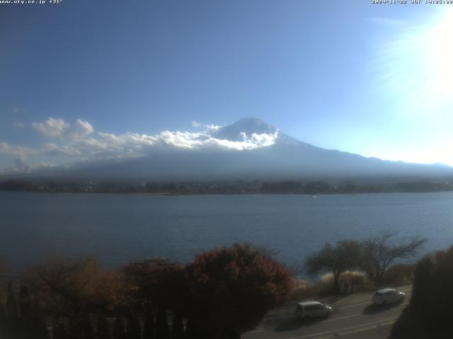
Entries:
{"label": "large rounded autumn tree with dark red leaves beside the road", "polygon": [[265,251],[234,244],[198,254],[185,268],[188,336],[240,338],[287,300],[294,284]]}

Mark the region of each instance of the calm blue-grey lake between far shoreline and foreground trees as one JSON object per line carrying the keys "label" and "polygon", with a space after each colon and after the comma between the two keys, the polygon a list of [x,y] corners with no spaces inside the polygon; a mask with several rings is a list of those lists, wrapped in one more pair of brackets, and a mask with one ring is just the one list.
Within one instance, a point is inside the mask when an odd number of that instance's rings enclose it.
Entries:
{"label": "calm blue-grey lake between far shoreline and foreground trees", "polygon": [[423,252],[453,244],[453,192],[420,194],[151,196],[0,192],[0,257],[23,268],[46,255],[96,254],[108,268],[234,242],[275,251],[300,266],[325,242],[385,230],[428,238]]}

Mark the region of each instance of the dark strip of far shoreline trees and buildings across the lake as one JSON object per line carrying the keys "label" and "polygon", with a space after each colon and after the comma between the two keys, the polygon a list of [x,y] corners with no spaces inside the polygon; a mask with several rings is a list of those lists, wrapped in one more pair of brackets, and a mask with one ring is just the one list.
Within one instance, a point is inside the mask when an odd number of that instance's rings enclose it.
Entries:
{"label": "dark strip of far shoreline trees and buildings across the lake", "polygon": [[10,179],[0,182],[3,191],[115,194],[364,194],[388,192],[453,191],[453,182],[415,180],[408,182],[351,182],[322,180],[231,180],[214,182],[30,182]]}

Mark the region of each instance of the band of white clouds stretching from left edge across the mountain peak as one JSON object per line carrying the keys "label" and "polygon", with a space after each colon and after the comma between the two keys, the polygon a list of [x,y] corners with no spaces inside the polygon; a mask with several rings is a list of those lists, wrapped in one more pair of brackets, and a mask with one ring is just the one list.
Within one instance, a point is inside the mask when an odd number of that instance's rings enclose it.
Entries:
{"label": "band of white clouds stretching from left edge across the mountain peak", "polygon": [[[273,145],[278,138],[277,129],[263,130],[260,133],[255,129],[246,129],[246,126],[237,126],[239,129],[231,136],[230,126],[199,124],[195,121],[193,127],[201,131],[161,131],[152,135],[95,131],[88,121],[81,119],[71,125],[64,119],[50,117],[43,122],[33,122],[31,126],[41,136],[52,141],[33,149],[0,143],[0,155],[13,155],[18,160],[13,172],[25,169],[25,166],[18,164],[23,164],[26,155],[32,153],[40,157],[39,162],[45,160],[43,157],[50,157],[54,161],[64,158],[62,165],[70,166],[78,162],[137,158],[172,150],[256,150]],[[30,166],[26,167],[26,172],[29,169]]]}

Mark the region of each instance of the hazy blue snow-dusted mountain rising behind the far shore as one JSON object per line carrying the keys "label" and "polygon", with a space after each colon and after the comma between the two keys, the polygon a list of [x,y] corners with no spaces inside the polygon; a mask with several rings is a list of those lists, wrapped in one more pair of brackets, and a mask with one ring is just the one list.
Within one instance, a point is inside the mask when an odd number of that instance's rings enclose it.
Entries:
{"label": "hazy blue snow-dusted mountain rising behind the far shore", "polygon": [[242,150],[160,149],[146,157],[91,164],[50,175],[71,179],[146,181],[453,175],[452,167],[392,162],[319,148],[297,141],[260,119],[241,119],[209,133],[212,138],[225,142],[266,138],[269,145]]}

